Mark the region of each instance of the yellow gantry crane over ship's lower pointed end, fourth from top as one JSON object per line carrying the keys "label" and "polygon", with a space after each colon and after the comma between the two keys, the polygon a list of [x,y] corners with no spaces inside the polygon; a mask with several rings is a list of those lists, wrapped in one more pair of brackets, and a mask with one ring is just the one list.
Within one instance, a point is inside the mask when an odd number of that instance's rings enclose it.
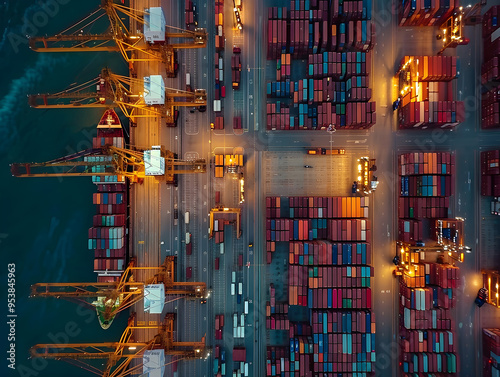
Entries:
{"label": "yellow gantry crane over ship's lower pointed end, fourth from top", "polygon": [[[207,286],[203,282],[174,281],[175,257],[168,256],[160,267],[136,267],[131,263],[116,282],[92,283],[38,283],[31,286],[31,297],[56,297],[77,301],[94,307],[101,327],[109,328],[122,310],[142,300],[145,287],[163,284],[166,295],[206,298]],[[137,273],[154,272],[152,277]]]}

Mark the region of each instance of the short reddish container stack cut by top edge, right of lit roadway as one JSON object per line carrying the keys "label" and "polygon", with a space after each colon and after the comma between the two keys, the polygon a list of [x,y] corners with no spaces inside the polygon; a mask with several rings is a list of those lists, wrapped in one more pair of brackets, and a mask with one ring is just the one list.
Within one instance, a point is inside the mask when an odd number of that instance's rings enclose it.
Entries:
{"label": "short reddish container stack cut by top edge, right of lit roadway", "polygon": [[400,0],[398,6],[399,26],[441,26],[458,7],[458,0],[444,2],[420,2]]}

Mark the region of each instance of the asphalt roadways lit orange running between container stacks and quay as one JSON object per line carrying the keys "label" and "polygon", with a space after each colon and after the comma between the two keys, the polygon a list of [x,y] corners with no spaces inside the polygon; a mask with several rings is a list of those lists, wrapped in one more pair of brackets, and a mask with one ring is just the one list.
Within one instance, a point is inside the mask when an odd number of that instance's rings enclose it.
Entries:
{"label": "asphalt roadways lit orange running between container stacks and quay", "polygon": [[[159,4],[149,1],[150,6]],[[183,25],[183,4],[172,1],[161,1],[165,11],[167,24]],[[266,66],[266,44],[264,25],[266,24],[266,7],[270,5],[288,6],[288,2],[279,4],[264,3],[262,0],[243,4],[242,34],[228,27],[231,19],[231,4],[225,6],[226,53],[225,67],[230,67],[230,55],[233,44],[242,47],[242,83],[239,91],[231,91],[229,69],[225,69],[227,98],[223,100],[223,112],[226,119],[223,131],[211,131],[210,122],[215,116],[212,112],[215,53],[213,42],[214,9],[212,3],[198,2],[199,26],[206,27],[210,33],[208,47],[200,50],[184,50],[179,53],[180,71],[176,79],[166,79],[167,86],[183,88],[185,73],[191,73],[192,86],[206,88],[208,109],[205,113],[190,113],[181,109],[178,127],[167,128],[161,120],[147,120],[133,130],[132,138],[136,145],[162,144],[167,149],[178,152],[184,158],[195,156],[211,160],[220,148],[226,151],[234,147],[242,147],[245,151],[245,203],[242,205],[243,235],[238,240],[234,237],[234,226],[226,227],[225,254],[219,253],[219,246],[208,238],[208,213],[214,205],[214,188],[220,185],[213,177],[213,171],[207,174],[186,175],[179,178],[178,188],[164,183],[147,180],[144,185],[132,187],[132,221],[131,243],[133,253],[139,262],[154,265],[161,263],[166,255],[177,255],[177,278],[185,279],[185,268],[193,268],[193,281],[207,282],[212,287],[212,296],[206,305],[197,301],[184,299],[167,303],[165,312],[177,313],[176,338],[180,341],[198,341],[207,336],[207,345],[214,347],[220,344],[226,350],[226,372],[232,370],[230,350],[233,345],[244,345],[247,348],[247,359],[251,376],[265,373],[265,302],[266,276],[264,229],[264,197],[268,187],[264,185],[267,151],[278,156],[286,154],[300,155],[308,146],[345,148],[348,152],[368,153],[377,159],[380,185],[371,201],[370,214],[373,221],[373,253],[375,278],[373,279],[374,312],[377,321],[377,376],[396,376],[397,347],[397,281],[392,276],[392,258],[395,253],[397,236],[396,197],[397,197],[397,161],[398,153],[407,151],[455,151],[456,152],[456,195],[452,198],[451,215],[466,218],[466,243],[472,253],[466,255],[461,268],[461,287],[457,291],[456,329],[458,335],[458,355],[460,359],[460,375],[480,375],[481,371],[481,328],[498,324],[499,314],[494,308],[483,307],[481,312],[475,308],[473,299],[481,284],[478,273],[482,265],[488,263],[494,251],[489,255],[482,245],[482,228],[487,220],[481,221],[479,208],[479,153],[483,149],[497,147],[500,137],[495,131],[480,130],[479,77],[481,59],[480,26],[467,27],[470,35],[468,46],[461,46],[456,53],[461,60],[461,75],[457,80],[457,99],[466,101],[467,120],[453,132],[438,131],[399,131],[396,115],[391,103],[394,100],[392,77],[397,62],[404,55],[435,54],[439,50],[434,38],[434,31],[415,28],[399,28],[392,8],[381,2],[375,2],[374,21],[377,26],[377,44],[374,49],[373,65],[377,67],[376,75],[371,75],[373,98],[377,102],[377,124],[370,130],[337,132],[334,136],[325,137],[323,133],[314,131],[300,132],[267,132],[265,130],[265,85],[264,70]],[[264,9],[264,11],[263,11]],[[161,72],[163,67],[156,63],[142,63],[139,77]],[[142,73],[141,73],[142,72]],[[146,73],[149,72],[149,73]],[[243,116],[244,133],[237,135],[232,130],[232,115]],[[140,132],[139,132],[140,130]],[[317,157],[322,158],[322,157]],[[279,157],[278,157],[279,159]],[[287,162],[288,161],[288,162]],[[287,175],[289,183],[303,178],[303,170],[293,169],[292,159],[278,162],[277,173]],[[314,169],[311,169],[314,170]],[[316,173],[318,171],[318,173]],[[319,169],[307,174],[317,174]],[[281,178],[281,177],[278,177]],[[224,178],[229,179],[229,178]],[[272,190],[271,190],[272,191]],[[304,195],[322,195],[314,187],[305,188]],[[231,201],[234,193],[222,193]],[[179,220],[175,225],[173,219],[174,203],[179,208]],[[224,203],[225,204],[225,203]],[[190,212],[190,223],[185,224],[183,215]],[[376,213],[376,218],[373,214]],[[192,234],[193,254],[185,255],[185,233]],[[254,253],[250,255],[248,243],[254,244]],[[479,251],[482,251],[481,253]],[[250,268],[239,270],[235,265],[237,253],[244,254],[244,260],[250,261]],[[481,257],[480,257],[481,256]],[[215,257],[221,258],[221,268],[214,270]],[[498,254],[496,254],[498,257]],[[232,339],[232,315],[243,311],[243,306],[236,304],[235,296],[229,292],[231,272],[237,271],[240,281],[244,283],[244,298],[252,300],[251,315],[246,318],[245,338]],[[243,299],[244,299],[243,298]],[[243,301],[243,300],[242,300]],[[140,305],[136,308],[140,312]],[[222,341],[214,340],[214,319],[216,314],[225,314],[225,328]],[[160,316],[145,315],[145,320],[159,321]],[[253,330],[253,331],[252,331]],[[180,376],[211,376],[212,362],[181,361],[178,364]],[[172,371],[167,366],[167,373]],[[169,374],[170,375],[170,374]]]}

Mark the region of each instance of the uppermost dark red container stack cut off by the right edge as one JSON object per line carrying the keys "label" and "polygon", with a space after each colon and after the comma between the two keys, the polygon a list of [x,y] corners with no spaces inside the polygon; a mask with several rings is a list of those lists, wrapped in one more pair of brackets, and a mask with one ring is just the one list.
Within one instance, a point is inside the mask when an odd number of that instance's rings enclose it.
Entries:
{"label": "uppermost dark red container stack cut off by the right edge", "polygon": [[494,5],[483,15],[483,64],[481,66],[481,83],[499,81],[498,57],[500,56],[500,40],[498,16],[500,6]]}

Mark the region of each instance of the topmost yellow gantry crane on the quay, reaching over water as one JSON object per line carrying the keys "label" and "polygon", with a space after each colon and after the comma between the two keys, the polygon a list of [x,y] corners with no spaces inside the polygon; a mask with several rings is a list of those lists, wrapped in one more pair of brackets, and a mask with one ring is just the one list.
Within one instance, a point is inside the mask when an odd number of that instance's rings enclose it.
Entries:
{"label": "topmost yellow gantry crane on the quay, reaching over water", "polygon": [[[169,77],[175,77],[175,50],[203,48],[207,45],[207,32],[203,28],[194,31],[166,26],[165,43],[149,44],[140,32],[132,32],[133,26],[127,27],[121,15],[129,17],[132,23],[144,25],[145,11],[115,4],[113,0],[102,0],[100,7],[76,24],[54,36],[31,37],[30,47],[41,52],[82,52],[82,51],[119,51],[133,68],[136,61],[161,61],[165,63]],[[107,16],[109,25],[100,34],[91,33],[104,24]],[[170,29],[171,31],[168,31]],[[183,42],[172,42],[172,39]],[[139,56],[140,55],[140,56]]]}

